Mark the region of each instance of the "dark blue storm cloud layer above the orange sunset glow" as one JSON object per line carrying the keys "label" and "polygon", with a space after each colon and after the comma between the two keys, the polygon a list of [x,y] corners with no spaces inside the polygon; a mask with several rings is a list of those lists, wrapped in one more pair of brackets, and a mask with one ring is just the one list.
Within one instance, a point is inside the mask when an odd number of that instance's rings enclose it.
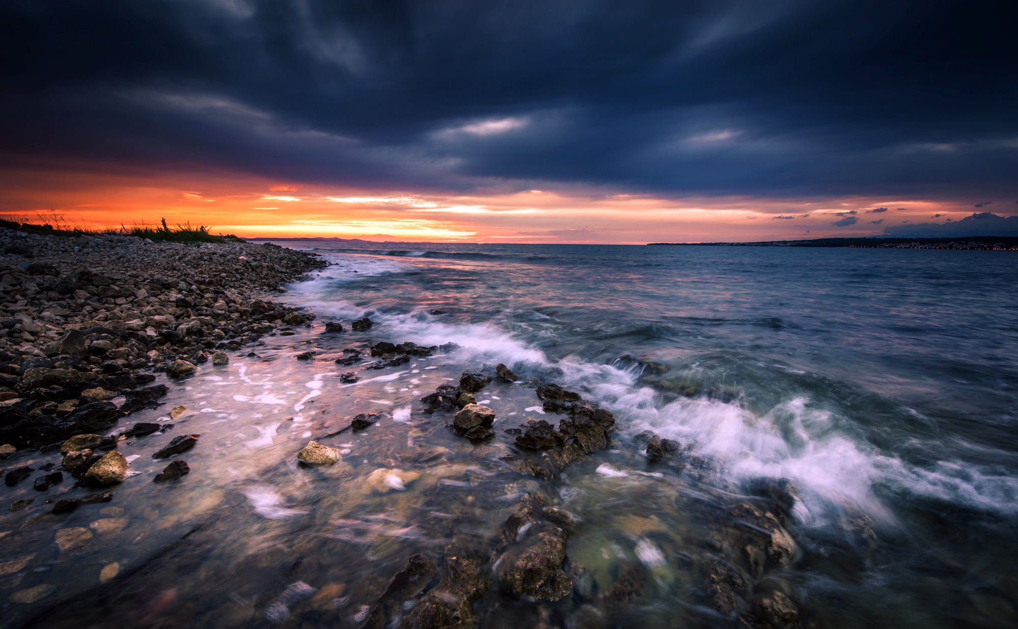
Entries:
{"label": "dark blue storm cloud layer above the orange sunset glow", "polygon": [[460,190],[1013,193],[976,3],[9,0],[7,168]]}

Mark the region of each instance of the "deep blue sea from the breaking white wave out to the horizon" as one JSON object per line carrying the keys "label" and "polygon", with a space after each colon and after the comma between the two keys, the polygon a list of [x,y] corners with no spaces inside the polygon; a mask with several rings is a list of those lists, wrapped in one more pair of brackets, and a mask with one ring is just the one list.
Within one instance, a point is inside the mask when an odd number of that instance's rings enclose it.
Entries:
{"label": "deep blue sea from the breaking white wave out to the horizon", "polygon": [[[800,598],[837,626],[1018,623],[1018,261],[1009,252],[349,244],[291,295],[456,342],[798,489]],[[878,544],[846,571],[839,521]],[[847,544],[851,545],[851,541]],[[875,623],[875,624],[874,624]]]}

